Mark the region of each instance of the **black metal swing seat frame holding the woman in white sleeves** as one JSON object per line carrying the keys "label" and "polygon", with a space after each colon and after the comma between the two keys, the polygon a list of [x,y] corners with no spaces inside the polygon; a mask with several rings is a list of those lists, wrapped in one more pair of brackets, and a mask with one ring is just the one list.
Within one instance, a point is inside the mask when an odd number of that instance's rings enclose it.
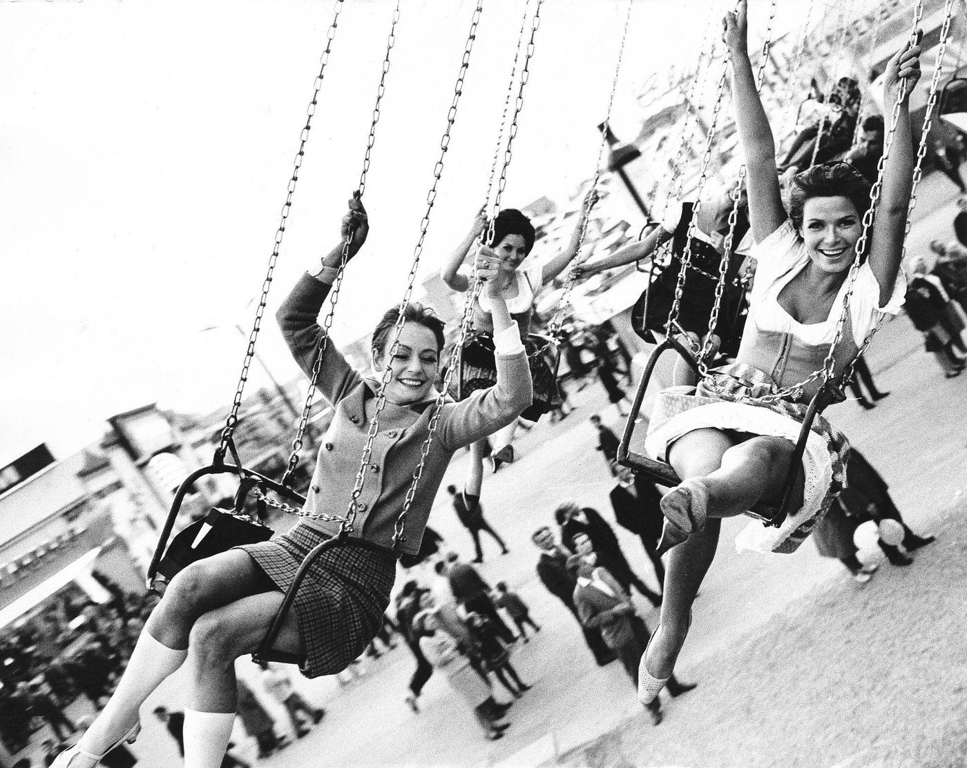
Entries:
{"label": "black metal swing seat frame holding the woman in white sleeves", "polygon": [[[637,474],[647,477],[649,480],[658,485],[662,485],[667,488],[674,488],[682,482],[682,479],[678,476],[678,473],[671,468],[671,466],[665,464],[664,462],[659,462],[658,460],[653,459],[644,453],[638,453],[630,450],[631,439],[634,435],[635,427],[637,426],[635,422],[637,421],[638,415],[641,412],[641,404],[645,399],[645,392],[648,389],[648,384],[651,381],[652,374],[654,373],[655,367],[658,364],[659,357],[668,350],[678,353],[679,356],[689,363],[692,370],[694,370],[696,374],[699,373],[698,365],[689,353],[689,350],[686,349],[682,343],[674,337],[666,337],[664,341],[662,341],[659,346],[655,348],[651,356],[648,358],[648,364],[645,366],[644,374],[642,375],[641,381],[638,383],[638,389],[634,394],[634,401],[631,404],[631,412],[628,415],[628,420],[625,422],[625,430],[622,433],[621,441],[618,445],[618,463]],[[823,384],[819,387],[816,394],[813,395],[812,399],[809,401],[809,406],[806,409],[806,417],[804,418],[803,426],[800,429],[799,440],[796,441],[796,447],[793,450],[792,459],[789,463],[789,471],[786,474],[781,504],[778,507],[767,504],[756,504],[746,513],[749,517],[762,521],[762,523],[766,526],[779,527],[789,516],[789,513],[793,511],[790,508],[792,506],[792,496],[796,485],[797,475],[801,471],[803,453],[806,450],[806,440],[809,437],[809,430],[816,414],[822,412],[823,409],[826,408],[826,406],[830,403],[835,402],[836,398],[834,396],[834,392],[835,386],[833,384]]]}

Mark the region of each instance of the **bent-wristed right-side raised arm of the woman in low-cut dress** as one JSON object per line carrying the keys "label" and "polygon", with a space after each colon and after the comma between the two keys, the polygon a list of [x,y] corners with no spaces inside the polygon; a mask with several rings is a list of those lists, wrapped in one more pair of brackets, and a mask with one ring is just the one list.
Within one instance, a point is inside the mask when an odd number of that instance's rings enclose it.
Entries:
{"label": "bent-wristed right-side raised arm of the woman in low-cut dress", "polygon": [[[918,40],[920,33],[918,32]],[[883,80],[883,105],[890,109],[899,97],[900,83],[905,83],[890,156],[883,174],[883,188],[873,219],[873,232],[867,252],[869,268],[880,285],[880,306],[886,305],[894,293],[896,274],[903,255],[907,208],[913,189],[913,138],[910,135],[910,92],[920,80],[920,45],[909,41],[887,65]]]}

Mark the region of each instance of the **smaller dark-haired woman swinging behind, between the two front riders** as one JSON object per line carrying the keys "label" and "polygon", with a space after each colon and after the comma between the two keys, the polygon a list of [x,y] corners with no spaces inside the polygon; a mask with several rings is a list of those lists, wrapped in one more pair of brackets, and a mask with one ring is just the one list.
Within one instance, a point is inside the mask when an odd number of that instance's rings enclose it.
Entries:
{"label": "smaller dark-haired woman swinging behind, between the two front riders", "polygon": [[[536,232],[531,220],[513,208],[504,209],[497,214],[493,222],[493,237],[489,238],[481,249],[489,258],[496,259],[500,264],[500,272],[496,278],[500,297],[507,304],[511,316],[516,321],[521,342],[527,349],[534,382],[534,401],[521,415],[530,421],[536,421],[542,413],[550,412],[560,404],[554,371],[551,370],[546,356],[542,353],[545,345],[540,340],[528,338],[534,316],[534,299],[542,287],[557,277],[577,255],[588,203],[590,197],[596,194],[593,189],[588,192],[585,204],[576,215],[577,220],[571,234],[571,241],[546,264],[542,265],[534,261],[523,264],[534,247]],[[486,237],[488,234],[487,223],[484,213],[478,213],[467,236],[457,245],[453,255],[440,272],[443,281],[454,291],[465,292],[472,284],[470,277],[461,272],[460,268],[474,243],[482,235]],[[481,294],[474,306],[473,332],[463,345],[462,375],[458,389],[456,384],[451,388],[454,396],[458,392],[460,397],[467,397],[476,390],[493,384],[496,369],[493,357],[492,301],[490,294]],[[494,435],[494,450],[491,454],[494,471],[501,462],[513,461],[515,428],[514,422]],[[473,496],[480,496],[481,493],[480,478],[483,475],[484,455],[484,443],[475,444],[471,476],[466,484],[466,492]]]}

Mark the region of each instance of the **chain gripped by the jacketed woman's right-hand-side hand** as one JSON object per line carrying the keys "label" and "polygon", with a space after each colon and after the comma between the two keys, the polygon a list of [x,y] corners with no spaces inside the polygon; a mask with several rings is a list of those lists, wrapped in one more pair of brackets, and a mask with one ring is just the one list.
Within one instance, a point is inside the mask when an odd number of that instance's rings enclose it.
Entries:
{"label": "chain gripped by the jacketed woman's right-hand-side hand", "polygon": [[[513,138],[517,134],[517,119],[520,117],[520,112],[524,107],[524,86],[527,84],[527,80],[530,76],[529,68],[535,50],[534,41],[537,36],[537,31],[541,26],[542,4],[543,0],[537,0],[537,5],[534,9],[534,18],[531,21],[531,36],[527,43],[526,52],[524,54],[523,66],[520,68],[520,84],[517,88],[517,98],[514,101],[511,127],[507,132],[507,147],[504,150],[504,162],[503,166],[501,167],[497,191],[494,195],[495,212],[499,211],[500,209],[500,198],[503,195],[504,186],[507,183],[507,170],[511,164],[511,158],[513,156]],[[480,6],[478,6],[478,8],[479,7]],[[493,227],[495,219],[496,215],[492,216],[490,219],[487,235],[488,242],[492,242],[493,240]],[[413,470],[413,479],[410,482],[410,487],[406,490],[406,498],[403,499],[403,508],[400,511],[399,516],[396,518],[396,523],[393,526],[394,548],[406,541],[406,516],[409,514],[410,507],[413,506],[413,499],[416,498],[417,488],[420,485],[420,478],[423,477],[423,472],[426,465],[426,457],[429,455],[429,449],[433,443],[433,437],[436,435],[436,428],[440,421],[440,414],[443,412],[443,406],[447,402],[447,393],[450,391],[450,384],[453,381],[454,373],[456,373],[456,370],[459,367],[459,355],[463,348],[463,344],[466,341],[467,335],[470,332],[470,327],[473,325],[474,307],[484,287],[484,283],[477,275],[476,269],[474,272],[473,289],[467,293],[466,299],[463,301],[463,316],[460,318],[460,332],[456,338],[456,341],[454,342],[454,347],[450,352],[450,357],[447,360],[447,373],[443,377],[443,382],[440,385],[440,391],[437,394],[436,402],[433,404],[433,414],[429,419],[426,439],[423,441],[423,445],[420,447],[420,461],[417,464],[416,469]]]}

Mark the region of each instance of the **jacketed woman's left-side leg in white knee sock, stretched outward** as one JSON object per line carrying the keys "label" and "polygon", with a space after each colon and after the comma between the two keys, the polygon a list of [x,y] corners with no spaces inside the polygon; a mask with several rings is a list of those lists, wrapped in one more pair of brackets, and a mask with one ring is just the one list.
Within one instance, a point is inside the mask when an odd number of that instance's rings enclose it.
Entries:
{"label": "jacketed woman's left-side leg in white knee sock, stretched outward", "polygon": [[[190,564],[168,585],[134,646],[114,694],[80,738],[82,753],[67,755],[71,768],[89,768],[137,723],[138,710],[161,682],[182,666],[188,656],[189,635],[195,619],[239,597],[274,585],[241,551],[232,551]],[[58,766],[62,768],[62,766]]]}

